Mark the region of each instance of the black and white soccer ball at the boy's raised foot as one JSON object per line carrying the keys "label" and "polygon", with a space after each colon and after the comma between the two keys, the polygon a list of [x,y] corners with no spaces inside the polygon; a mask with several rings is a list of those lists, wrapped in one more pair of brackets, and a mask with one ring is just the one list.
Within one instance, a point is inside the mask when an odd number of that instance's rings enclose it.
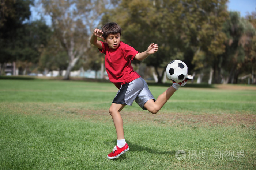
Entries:
{"label": "black and white soccer ball at the boy's raised foot", "polygon": [[166,67],[166,75],[173,82],[180,83],[188,75],[188,67],[181,60],[173,60]]}

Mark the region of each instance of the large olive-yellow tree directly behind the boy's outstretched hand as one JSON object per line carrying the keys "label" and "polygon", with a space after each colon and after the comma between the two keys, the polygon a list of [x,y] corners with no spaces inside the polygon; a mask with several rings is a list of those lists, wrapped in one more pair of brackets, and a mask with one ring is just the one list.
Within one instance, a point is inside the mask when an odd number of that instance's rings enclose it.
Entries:
{"label": "large olive-yellow tree directly behind the boy's outstretched hand", "polygon": [[[115,10],[109,10],[103,23],[115,20],[123,29],[122,41],[142,52],[149,44],[157,43],[159,50],[143,60],[152,66],[162,83],[165,67],[172,59],[182,59],[180,32],[176,19],[182,15],[176,0],[131,0],[118,1]],[[120,17],[117,17],[120,16]]]}

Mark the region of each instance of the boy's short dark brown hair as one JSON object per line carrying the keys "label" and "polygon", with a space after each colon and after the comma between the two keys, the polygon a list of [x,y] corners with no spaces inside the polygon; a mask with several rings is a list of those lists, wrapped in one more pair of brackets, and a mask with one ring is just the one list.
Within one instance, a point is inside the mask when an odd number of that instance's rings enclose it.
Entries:
{"label": "boy's short dark brown hair", "polygon": [[105,25],[103,25],[102,27],[102,36],[104,39],[107,39],[108,35],[110,34],[117,34],[117,33],[122,33],[122,29],[121,27],[114,22],[110,22],[110,23],[106,23]]}

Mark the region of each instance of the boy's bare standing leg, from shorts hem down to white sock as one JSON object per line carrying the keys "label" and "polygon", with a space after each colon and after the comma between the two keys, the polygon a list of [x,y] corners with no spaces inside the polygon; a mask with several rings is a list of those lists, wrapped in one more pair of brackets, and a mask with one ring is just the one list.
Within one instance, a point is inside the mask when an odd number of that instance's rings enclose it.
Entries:
{"label": "boy's bare standing leg, from shorts hem down to white sock", "polygon": [[120,114],[124,106],[125,106],[124,104],[112,103],[109,108],[109,113],[112,116],[112,119],[116,128],[116,134],[117,134],[118,140],[124,139],[124,124]]}

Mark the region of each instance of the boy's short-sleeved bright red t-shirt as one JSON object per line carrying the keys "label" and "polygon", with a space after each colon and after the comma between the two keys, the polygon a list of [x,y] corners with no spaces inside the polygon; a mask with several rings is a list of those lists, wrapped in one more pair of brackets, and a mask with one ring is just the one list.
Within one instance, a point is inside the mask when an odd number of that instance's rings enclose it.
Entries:
{"label": "boy's short-sleeved bright red t-shirt", "polygon": [[135,55],[139,53],[138,51],[121,41],[117,49],[109,48],[105,42],[101,43],[102,50],[99,49],[99,51],[106,54],[105,66],[109,80],[118,89],[120,89],[121,85],[140,77],[131,65],[131,60],[134,60]]}

